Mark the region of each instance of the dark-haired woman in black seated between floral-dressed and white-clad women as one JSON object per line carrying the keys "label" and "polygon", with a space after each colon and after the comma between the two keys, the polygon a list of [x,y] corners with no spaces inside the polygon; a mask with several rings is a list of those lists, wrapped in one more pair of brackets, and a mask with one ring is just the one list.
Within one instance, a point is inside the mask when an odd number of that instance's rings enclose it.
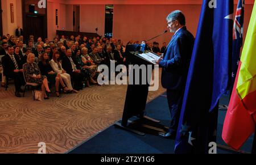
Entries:
{"label": "dark-haired woman in black seated between floral-dressed and white-clad women", "polygon": [[48,81],[50,84],[55,84],[55,94],[56,96],[59,98],[60,97],[60,93],[59,93],[59,86],[61,84],[61,87],[63,87],[64,91],[68,91],[68,88],[65,86],[63,79],[61,78],[59,73],[55,73],[52,70],[51,65],[49,64],[49,56],[46,52],[44,52],[42,54],[42,56],[40,57],[40,61],[39,61],[39,69],[41,71],[42,75],[46,75]]}

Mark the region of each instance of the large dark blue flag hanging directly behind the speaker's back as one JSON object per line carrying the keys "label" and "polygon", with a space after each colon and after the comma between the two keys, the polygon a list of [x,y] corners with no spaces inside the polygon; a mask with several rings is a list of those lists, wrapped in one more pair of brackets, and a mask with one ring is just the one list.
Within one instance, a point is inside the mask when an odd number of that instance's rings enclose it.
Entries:
{"label": "large dark blue flag hanging directly behind the speaker's back", "polygon": [[218,100],[232,73],[232,0],[204,0],[177,130],[175,153],[208,153],[216,142]]}

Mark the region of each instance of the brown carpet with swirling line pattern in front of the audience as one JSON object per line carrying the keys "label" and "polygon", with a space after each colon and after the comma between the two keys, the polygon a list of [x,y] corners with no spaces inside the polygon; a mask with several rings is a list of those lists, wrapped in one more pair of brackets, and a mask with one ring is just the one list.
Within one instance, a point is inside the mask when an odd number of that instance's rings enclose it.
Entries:
{"label": "brown carpet with swirling line pattern in front of the audience", "polygon": [[[127,86],[94,86],[79,94],[33,101],[32,92],[14,96],[14,84],[0,88],[0,153],[65,153],[121,119]],[[148,100],[165,90],[150,92]]]}

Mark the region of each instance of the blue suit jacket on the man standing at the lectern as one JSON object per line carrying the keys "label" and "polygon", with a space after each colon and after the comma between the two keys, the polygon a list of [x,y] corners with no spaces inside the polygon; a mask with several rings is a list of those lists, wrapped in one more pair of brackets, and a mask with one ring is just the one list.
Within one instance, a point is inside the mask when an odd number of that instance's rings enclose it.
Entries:
{"label": "blue suit jacket on the man standing at the lectern", "polygon": [[159,66],[162,69],[162,86],[170,90],[184,90],[195,38],[181,28],[168,44]]}

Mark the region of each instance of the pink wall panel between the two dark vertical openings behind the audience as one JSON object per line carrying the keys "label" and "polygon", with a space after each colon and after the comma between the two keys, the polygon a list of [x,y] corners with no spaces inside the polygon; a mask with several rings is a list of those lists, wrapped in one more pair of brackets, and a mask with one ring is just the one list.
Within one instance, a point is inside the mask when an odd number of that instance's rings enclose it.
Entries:
{"label": "pink wall panel between the two dark vertical openings behind the audience", "polygon": [[98,28],[98,35],[105,32],[105,5],[80,5],[80,31],[93,32]]}

